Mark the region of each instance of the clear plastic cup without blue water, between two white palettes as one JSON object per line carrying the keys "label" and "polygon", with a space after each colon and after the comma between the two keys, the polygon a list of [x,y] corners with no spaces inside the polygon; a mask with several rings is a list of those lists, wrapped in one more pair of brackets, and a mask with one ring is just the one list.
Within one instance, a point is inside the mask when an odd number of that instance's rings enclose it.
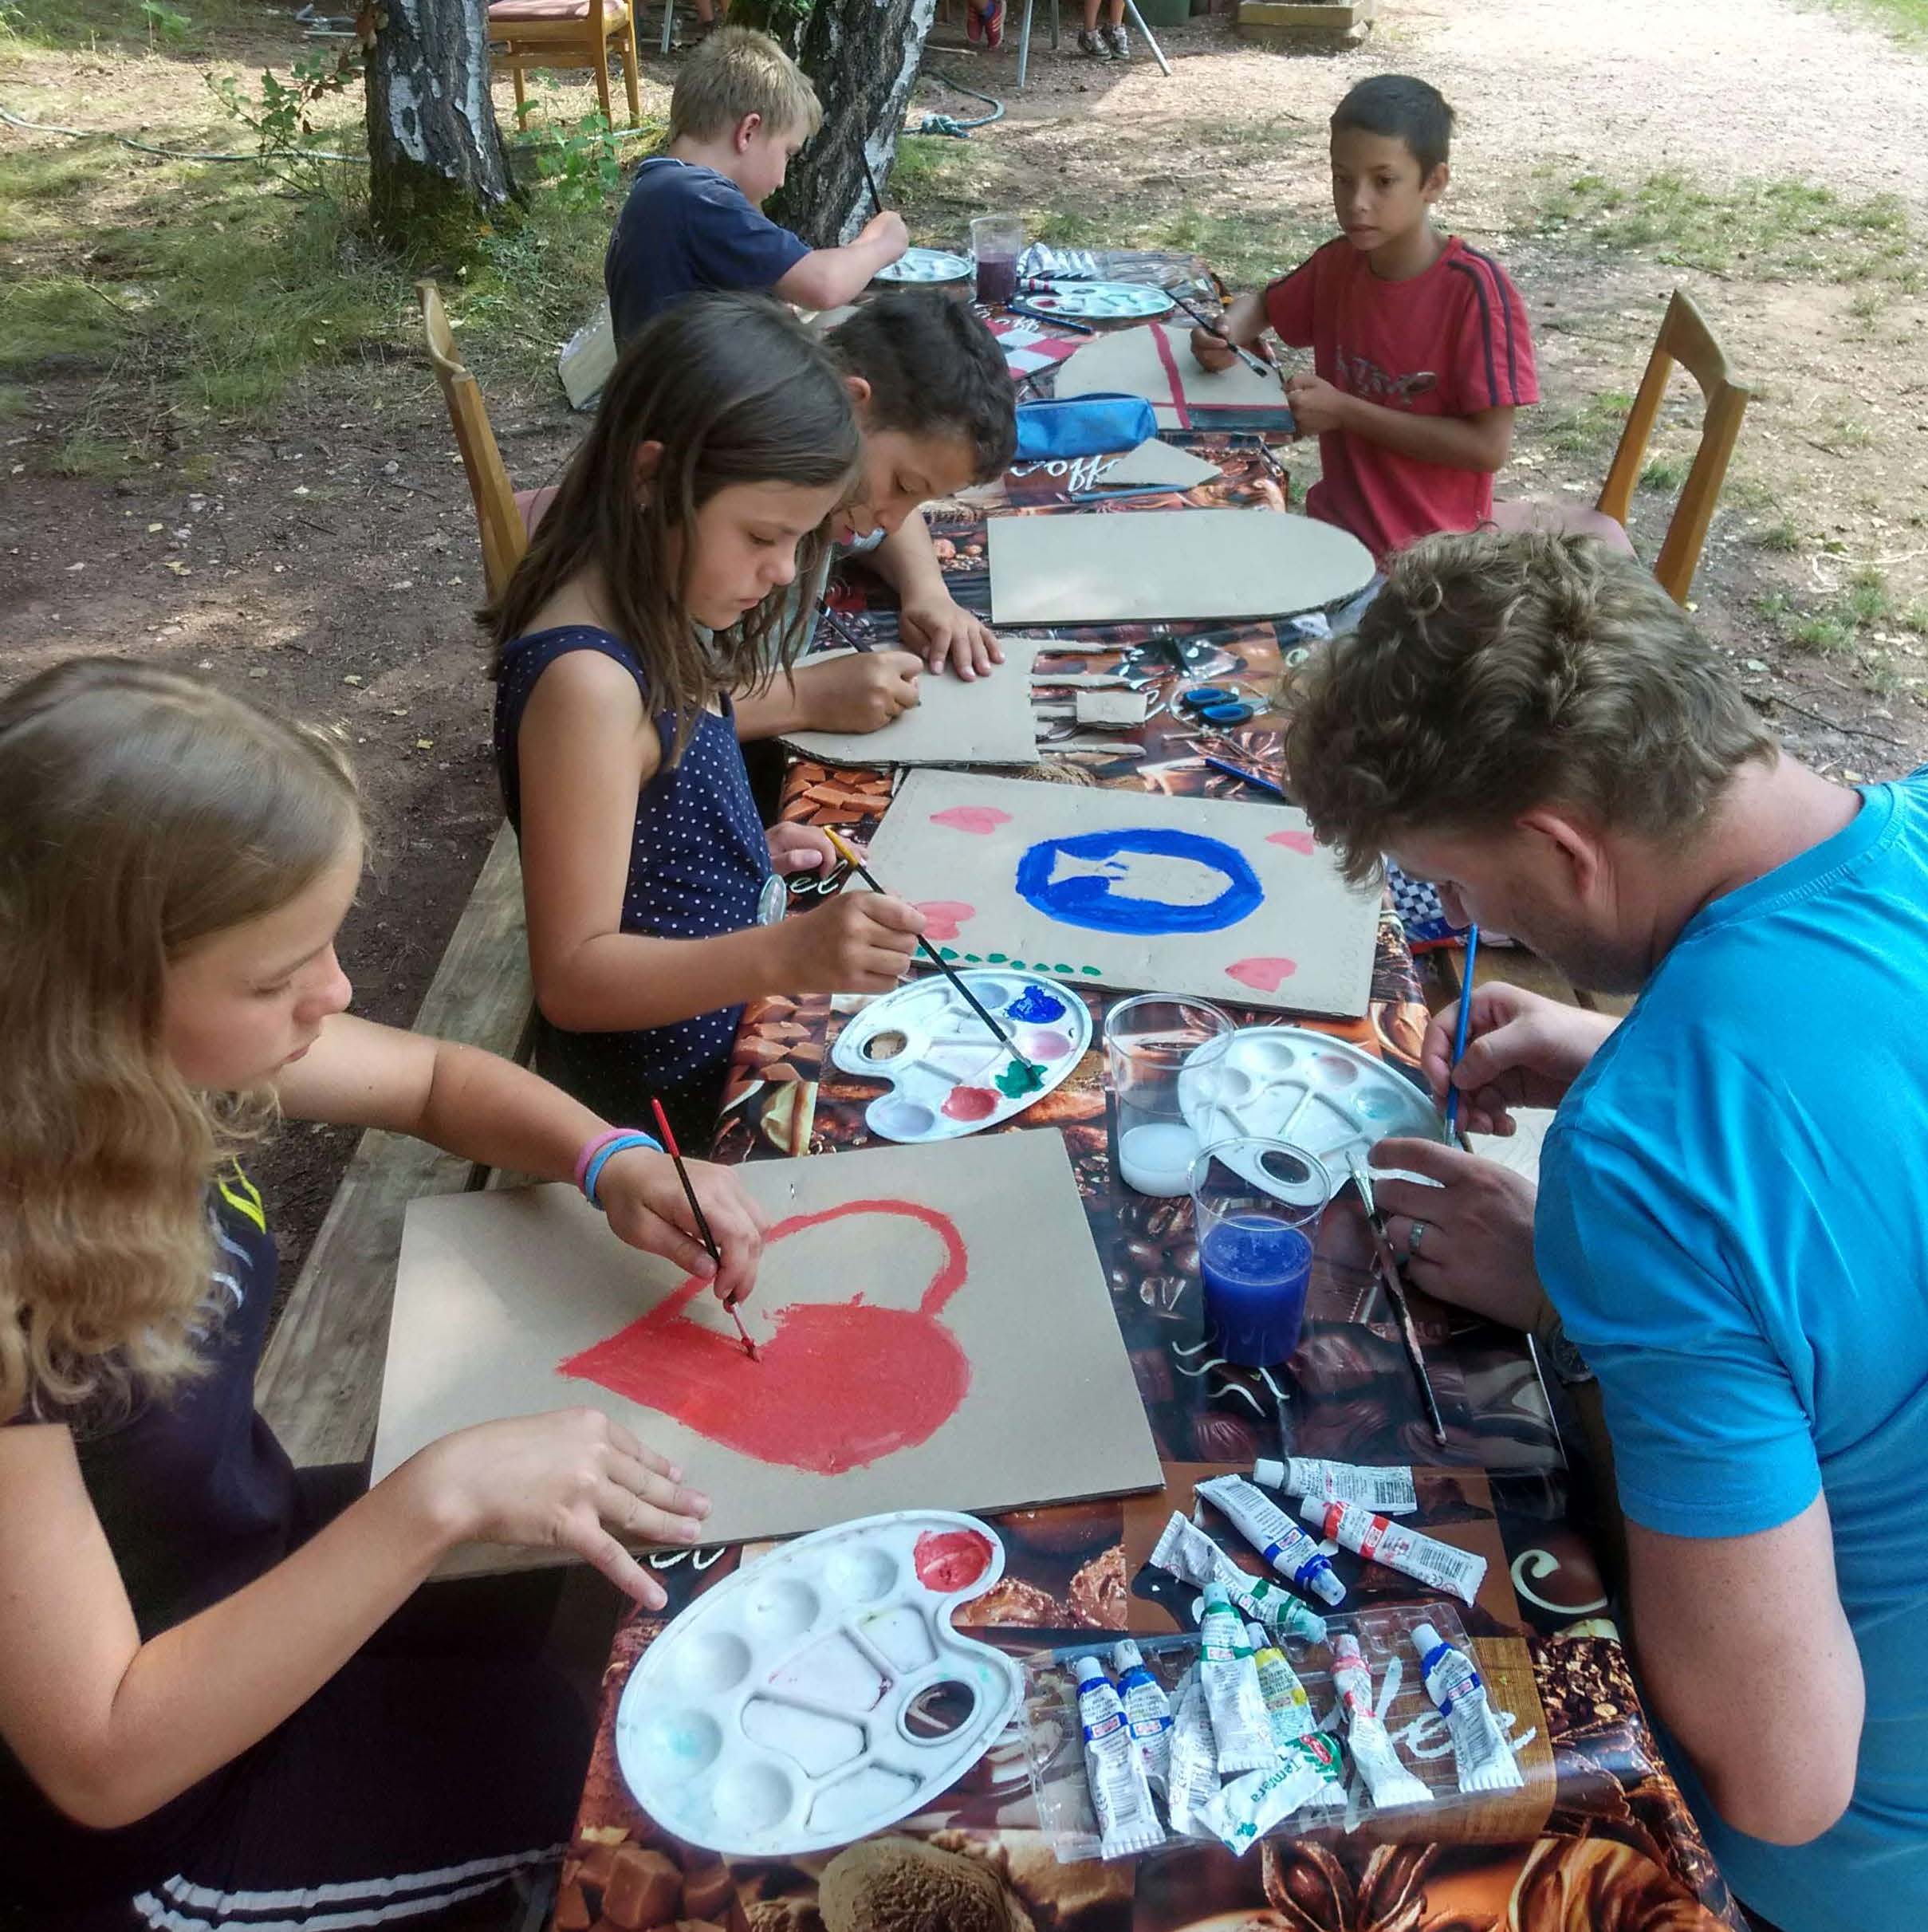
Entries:
{"label": "clear plastic cup without blue water, between two white palettes", "polygon": [[1233,1022],[1204,999],[1140,993],[1105,1014],[1105,1070],[1119,1105],[1119,1179],[1140,1194],[1192,1190],[1192,1161],[1213,1138]]}

